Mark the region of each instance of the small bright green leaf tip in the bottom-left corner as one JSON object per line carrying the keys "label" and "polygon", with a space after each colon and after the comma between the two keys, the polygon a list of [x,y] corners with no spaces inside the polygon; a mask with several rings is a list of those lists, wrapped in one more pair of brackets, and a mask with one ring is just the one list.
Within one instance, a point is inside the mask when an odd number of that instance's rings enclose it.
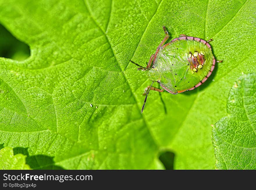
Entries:
{"label": "small bright green leaf tip in the bottom-left corner", "polygon": [[23,154],[13,155],[12,147],[4,147],[0,150],[0,169],[30,169],[26,164],[26,156]]}

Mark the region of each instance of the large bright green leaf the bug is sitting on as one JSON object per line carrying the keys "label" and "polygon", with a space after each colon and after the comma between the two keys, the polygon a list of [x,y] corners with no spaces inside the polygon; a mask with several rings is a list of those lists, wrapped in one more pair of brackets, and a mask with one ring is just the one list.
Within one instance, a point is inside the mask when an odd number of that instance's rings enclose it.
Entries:
{"label": "large bright green leaf the bug is sitting on", "polygon": [[[24,61],[0,59],[0,143],[65,169],[163,169],[162,150],[174,169],[214,169],[210,125],[256,66],[255,9],[253,0],[0,0],[0,22],[31,48]],[[172,38],[213,38],[223,63],[194,91],[150,92],[141,114],[150,81],[129,60],[146,65],[163,25]]]}

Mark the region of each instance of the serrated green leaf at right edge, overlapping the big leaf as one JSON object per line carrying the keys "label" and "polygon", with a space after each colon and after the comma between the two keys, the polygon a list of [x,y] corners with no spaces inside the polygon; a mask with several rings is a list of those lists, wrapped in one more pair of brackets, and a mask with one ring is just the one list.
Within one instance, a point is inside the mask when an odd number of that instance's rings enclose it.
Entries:
{"label": "serrated green leaf at right edge, overlapping the big leaf", "polygon": [[256,169],[256,74],[244,75],[231,88],[227,117],[212,130],[217,169]]}

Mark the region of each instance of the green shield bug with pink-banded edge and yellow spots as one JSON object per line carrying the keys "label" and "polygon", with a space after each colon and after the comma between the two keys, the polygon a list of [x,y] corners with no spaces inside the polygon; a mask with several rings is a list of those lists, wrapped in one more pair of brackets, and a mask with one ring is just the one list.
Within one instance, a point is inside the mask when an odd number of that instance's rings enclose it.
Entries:
{"label": "green shield bug with pink-banded edge and yellow spots", "polygon": [[[150,90],[158,92],[166,90],[171,94],[191,91],[209,78],[216,62],[222,62],[217,61],[212,54],[208,43],[212,39],[205,41],[181,34],[164,44],[169,35],[165,26],[163,31],[165,37],[157,47],[156,53],[151,55],[146,67],[131,61],[139,66],[138,70],[147,71],[147,76],[152,81],[152,84],[145,89],[146,97],[141,113]],[[154,82],[160,83],[163,89],[152,87]]]}

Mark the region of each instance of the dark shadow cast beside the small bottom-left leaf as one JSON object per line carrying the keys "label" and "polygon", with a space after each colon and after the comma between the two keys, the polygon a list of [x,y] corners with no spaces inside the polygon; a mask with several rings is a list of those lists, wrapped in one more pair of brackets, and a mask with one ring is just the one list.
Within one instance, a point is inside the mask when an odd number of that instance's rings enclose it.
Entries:
{"label": "dark shadow cast beside the small bottom-left leaf", "polygon": [[53,160],[54,157],[43,154],[29,155],[28,148],[15,147],[13,148],[13,153],[14,155],[18,153],[26,155],[26,164],[28,164],[32,169],[64,170],[63,167],[55,164]]}

